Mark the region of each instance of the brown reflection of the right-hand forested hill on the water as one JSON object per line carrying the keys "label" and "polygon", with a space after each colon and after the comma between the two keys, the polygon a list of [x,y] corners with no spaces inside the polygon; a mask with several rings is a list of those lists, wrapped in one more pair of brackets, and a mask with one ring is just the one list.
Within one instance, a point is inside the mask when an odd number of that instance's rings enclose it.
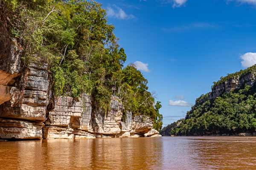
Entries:
{"label": "brown reflection of the right-hand forested hill on the water", "polygon": [[[255,169],[256,140],[246,137],[207,138],[189,142],[192,161],[201,169]],[[197,155],[197,156],[195,156]]]}

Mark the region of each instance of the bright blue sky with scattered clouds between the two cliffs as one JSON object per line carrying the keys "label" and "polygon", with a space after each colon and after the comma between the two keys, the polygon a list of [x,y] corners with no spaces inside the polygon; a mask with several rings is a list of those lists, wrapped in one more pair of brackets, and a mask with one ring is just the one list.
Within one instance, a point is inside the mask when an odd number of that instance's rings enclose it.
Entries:
{"label": "bright blue sky with scattered clouds between the two cliffs", "polygon": [[221,76],[256,64],[256,0],[98,0],[127,64],[162,102],[164,125]]}

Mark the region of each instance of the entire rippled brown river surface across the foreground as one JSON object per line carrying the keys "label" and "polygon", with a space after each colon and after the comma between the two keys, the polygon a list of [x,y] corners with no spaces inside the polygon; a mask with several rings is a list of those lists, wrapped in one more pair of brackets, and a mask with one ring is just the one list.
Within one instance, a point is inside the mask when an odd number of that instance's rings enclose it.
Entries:
{"label": "entire rippled brown river surface across the foreground", "polygon": [[0,169],[256,170],[254,137],[0,142]]}

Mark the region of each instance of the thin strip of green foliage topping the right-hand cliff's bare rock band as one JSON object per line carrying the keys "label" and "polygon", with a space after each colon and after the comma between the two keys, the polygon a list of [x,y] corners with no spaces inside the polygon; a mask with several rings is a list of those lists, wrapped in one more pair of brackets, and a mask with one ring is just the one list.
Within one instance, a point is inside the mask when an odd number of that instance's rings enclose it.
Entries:
{"label": "thin strip of green foliage topping the right-hand cliff's bare rock band", "polygon": [[253,73],[256,72],[256,65],[253,65],[253,66],[251,66],[247,69],[240,70],[240,71],[237,71],[237,72],[232,73],[232,74],[227,74],[227,76],[225,76],[225,77],[221,77],[220,80],[218,80],[218,82],[213,82],[212,89],[214,89],[216,86],[221,85],[222,83],[228,81],[229,79],[232,79],[232,78],[239,78],[240,79],[245,74],[248,74],[250,72],[253,72]]}

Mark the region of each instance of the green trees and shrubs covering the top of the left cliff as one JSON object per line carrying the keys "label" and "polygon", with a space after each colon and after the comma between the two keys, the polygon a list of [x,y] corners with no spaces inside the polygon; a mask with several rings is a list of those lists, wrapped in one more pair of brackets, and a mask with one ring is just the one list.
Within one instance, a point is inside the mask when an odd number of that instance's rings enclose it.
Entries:
{"label": "green trees and shrubs covering the top of the left cliff", "polygon": [[107,23],[101,4],[86,0],[1,0],[0,23],[23,49],[23,64],[47,63],[55,96],[90,94],[93,109],[108,111],[118,96],[126,111],[148,115],[162,127],[160,102],[134,65],[124,68],[125,50]]}

